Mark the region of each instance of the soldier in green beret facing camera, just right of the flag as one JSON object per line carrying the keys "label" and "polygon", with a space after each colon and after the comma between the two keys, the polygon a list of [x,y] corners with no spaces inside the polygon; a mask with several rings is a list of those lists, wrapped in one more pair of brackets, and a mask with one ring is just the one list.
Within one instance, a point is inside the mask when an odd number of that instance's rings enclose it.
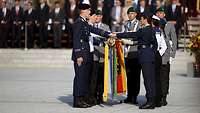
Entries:
{"label": "soldier in green beret facing camera, just right of the flag", "polygon": [[[134,7],[127,10],[129,20],[124,23],[124,32],[136,32],[139,30],[140,22],[136,19],[137,12]],[[125,61],[127,73],[128,93],[124,103],[137,103],[137,96],[140,91],[141,65],[138,61],[137,41],[135,44],[126,47]]]}

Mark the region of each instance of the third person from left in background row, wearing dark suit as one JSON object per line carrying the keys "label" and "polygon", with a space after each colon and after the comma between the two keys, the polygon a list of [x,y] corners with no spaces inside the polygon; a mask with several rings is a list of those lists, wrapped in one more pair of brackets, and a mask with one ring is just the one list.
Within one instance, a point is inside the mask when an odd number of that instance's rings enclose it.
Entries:
{"label": "third person from left in background row, wearing dark suit", "polygon": [[34,42],[34,27],[36,20],[36,11],[33,9],[33,3],[28,2],[27,10],[25,11],[25,23],[27,26],[27,48],[33,48]]}

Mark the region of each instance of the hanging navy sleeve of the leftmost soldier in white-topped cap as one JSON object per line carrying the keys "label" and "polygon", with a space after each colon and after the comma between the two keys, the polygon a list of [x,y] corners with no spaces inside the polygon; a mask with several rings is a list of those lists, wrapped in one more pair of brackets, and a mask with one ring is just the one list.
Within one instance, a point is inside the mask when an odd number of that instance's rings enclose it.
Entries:
{"label": "hanging navy sleeve of the leftmost soldier in white-topped cap", "polygon": [[73,50],[75,52],[75,57],[79,58],[82,56],[81,53],[81,28],[82,28],[82,23],[81,22],[76,22],[73,25]]}

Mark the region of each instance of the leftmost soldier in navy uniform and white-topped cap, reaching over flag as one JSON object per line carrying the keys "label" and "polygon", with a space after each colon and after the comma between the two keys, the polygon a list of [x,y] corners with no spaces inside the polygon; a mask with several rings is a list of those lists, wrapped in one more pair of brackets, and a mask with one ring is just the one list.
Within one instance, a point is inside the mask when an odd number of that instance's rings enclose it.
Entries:
{"label": "leftmost soldier in navy uniform and white-topped cap, reaching over flag", "polygon": [[86,101],[89,93],[89,75],[93,61],[93,53],[90,52],[89,36],[90,32],[108,37],[109,32],[100,30],[88,24],[87,19],[90,16],[90,5],[80,4],[80,16],[73,24],[73,50],[72,60],[74,61],[74,107],[91,107]]}

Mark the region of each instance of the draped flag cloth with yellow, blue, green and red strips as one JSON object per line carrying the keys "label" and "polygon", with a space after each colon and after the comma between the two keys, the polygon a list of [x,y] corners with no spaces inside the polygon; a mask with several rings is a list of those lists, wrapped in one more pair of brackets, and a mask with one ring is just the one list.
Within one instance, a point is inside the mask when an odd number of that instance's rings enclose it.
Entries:
{"label": "draped flag cloth with yellow, blue, green and red strips", "polygon": [[108,100],[109,91],[111,91],[112,98],[126,94],[127,82],[124,52],[121,41],[116,40],[115,44],[110,47],[108,44],[105,44],[104,52],[103,100],[106,102]]}

